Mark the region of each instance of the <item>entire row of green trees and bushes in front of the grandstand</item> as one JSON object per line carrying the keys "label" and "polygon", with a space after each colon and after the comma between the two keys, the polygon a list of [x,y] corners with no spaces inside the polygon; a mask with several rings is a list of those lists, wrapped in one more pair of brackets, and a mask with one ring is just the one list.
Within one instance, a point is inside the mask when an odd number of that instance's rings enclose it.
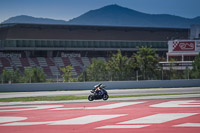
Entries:
{"label": "entire row of green trees and bushes in front of the grandstand", "polygon": [[[131,57],[122,55],[121,51],[113,54],[105,62],[92,59],[92,63],[83,70],[78,78],[72,77],[72,66],[60,68],[64,82],[83,81],[123,81],[123,80],[173,80],[173,79],[199,79],[200,54],[195,57],[193,69],[186,68],[178,71],[170,66],[170,70],[162,70],[159,65],[160,58],[152,48],[141,47]],[[35,83],[46,82],[46,76],[40,68],[27,68],[24,74],[17,69],[10,71],[4,69],[0,75],[2,83]]]}

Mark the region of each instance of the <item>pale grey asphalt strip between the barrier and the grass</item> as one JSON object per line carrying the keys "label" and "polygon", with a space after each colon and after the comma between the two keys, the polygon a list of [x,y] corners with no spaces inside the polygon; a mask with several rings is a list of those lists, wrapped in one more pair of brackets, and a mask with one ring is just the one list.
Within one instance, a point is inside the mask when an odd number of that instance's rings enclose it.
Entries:
{"label": "pale grey asphalt strip between the barrier and the grass", "polygon": [[[162,89],[119,89],[107,90],[111,95],[143,95],[143,94],[181,94],[181,93],[200,93],[200,87],[189,88],[162,88]],[[0,93],[0,98],[13,97],[36,97],[36,96],[88,96],[90,90],[82,91],[39,91],[39,92],[8,92]]]}

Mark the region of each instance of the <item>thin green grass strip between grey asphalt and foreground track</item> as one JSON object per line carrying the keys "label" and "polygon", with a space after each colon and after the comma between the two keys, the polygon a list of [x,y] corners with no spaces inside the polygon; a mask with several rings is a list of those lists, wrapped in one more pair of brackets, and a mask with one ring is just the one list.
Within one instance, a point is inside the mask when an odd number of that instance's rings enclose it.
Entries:
{"label": "thin green grass strip between grey asphalt and foreground track", "polygon": [[[166,96],[166,95],[184,95],[184,94],[200,94],[200,93],[114,95],[114,96],[109,96],[109,97],[110,98],[123,98],[123,97]],[[82,100],[82,99],[87,99],[87,97],[88,96],[18,97],[18,98],[1,98],[0,102]]]}

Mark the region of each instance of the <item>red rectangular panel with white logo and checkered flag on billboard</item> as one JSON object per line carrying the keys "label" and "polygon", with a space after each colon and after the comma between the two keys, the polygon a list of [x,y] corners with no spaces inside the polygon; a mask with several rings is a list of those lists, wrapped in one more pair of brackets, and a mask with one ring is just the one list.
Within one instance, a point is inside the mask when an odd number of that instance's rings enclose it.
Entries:
{"label": "red rectangular panel with white logo and checkered flag on billboard", "polygon": [[173,42],[173,51],[194,51],[195,41]]}

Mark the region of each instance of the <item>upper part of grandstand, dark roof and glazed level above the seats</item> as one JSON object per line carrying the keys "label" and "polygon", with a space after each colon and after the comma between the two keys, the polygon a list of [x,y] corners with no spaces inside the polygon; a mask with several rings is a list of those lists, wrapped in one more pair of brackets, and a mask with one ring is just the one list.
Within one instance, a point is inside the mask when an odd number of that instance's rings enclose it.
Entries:
{"label": "upper part of grandstand, dark roof and glazed level above the seats", "polygon": [[167,41],[189,39],[189,29],[112,26],[5,24],[0,25],[2,52],[19,51],[22,56],[54,57],[62,52],[81,56],[107,56],[121,49],[128,55],[136,47],[149,46],[165,56]]}

